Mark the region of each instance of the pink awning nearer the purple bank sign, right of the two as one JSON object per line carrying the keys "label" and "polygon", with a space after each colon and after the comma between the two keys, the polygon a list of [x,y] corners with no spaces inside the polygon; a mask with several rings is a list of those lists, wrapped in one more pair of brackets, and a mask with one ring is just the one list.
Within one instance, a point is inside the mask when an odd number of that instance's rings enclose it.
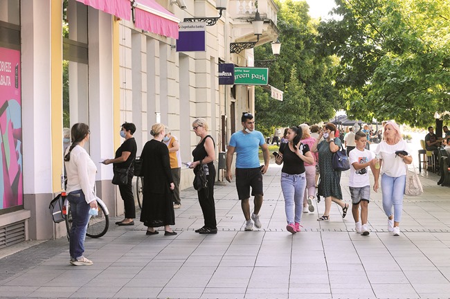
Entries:
{"label": "pink awning nearer the purple bank sign, right of the two", "polygon": [[154,0],[134,0],[134,26],[178,39],[179,19]]}

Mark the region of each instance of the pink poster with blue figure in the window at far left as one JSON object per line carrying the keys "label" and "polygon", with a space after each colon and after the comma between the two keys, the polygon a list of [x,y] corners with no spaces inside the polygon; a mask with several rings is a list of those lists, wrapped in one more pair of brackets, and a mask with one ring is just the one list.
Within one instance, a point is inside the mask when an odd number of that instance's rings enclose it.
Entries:
{"label": "pink poster with blue figure in the window at far left", "polygon": [[0,47],[0,209],[24,203],[20,51]]}

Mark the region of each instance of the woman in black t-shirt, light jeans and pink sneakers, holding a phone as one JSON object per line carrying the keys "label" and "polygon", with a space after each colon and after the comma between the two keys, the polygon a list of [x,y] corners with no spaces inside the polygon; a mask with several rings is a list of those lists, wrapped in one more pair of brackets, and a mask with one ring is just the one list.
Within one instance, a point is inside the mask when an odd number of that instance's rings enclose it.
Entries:
{"label": "woman in black t-shirt, light jeans and pink sneakers, holding a phone", "polygon": [[300,142],[301,127],[290,127],[286,137],[288,143],[280,146],[280,153],[276,156],[275,163],[283,164],[281,189],[285,197],[286,229],[294,234],[300,231],[303,195],[306,188],[305,163],[314,163],[314,157],[309,152],[309,146]]}

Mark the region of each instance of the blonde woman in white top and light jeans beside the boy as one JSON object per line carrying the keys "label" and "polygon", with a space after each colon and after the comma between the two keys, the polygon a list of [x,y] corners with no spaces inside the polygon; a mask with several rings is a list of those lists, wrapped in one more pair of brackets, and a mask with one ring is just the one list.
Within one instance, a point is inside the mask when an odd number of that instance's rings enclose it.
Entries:
{"label": "blonde woman in white top and light jeans beside the boy", "polygon": [[[381,192],[383,194],[383,210],[388,217],[388,230],[397,236],[400,233],[400,220],[402,219],[403,194],[406,183],[406,164],[411,164],[413,158],[410,154],[395,154],[405,151],[408,153],[406,141],[400,134],[399,125],[389,121],[384,125],[383,141],[379,143],[375,154],[381,165]],[[374,190],[377,192],[380,170],[374,172]],[[394,212],[393,212],[394,207]]]}

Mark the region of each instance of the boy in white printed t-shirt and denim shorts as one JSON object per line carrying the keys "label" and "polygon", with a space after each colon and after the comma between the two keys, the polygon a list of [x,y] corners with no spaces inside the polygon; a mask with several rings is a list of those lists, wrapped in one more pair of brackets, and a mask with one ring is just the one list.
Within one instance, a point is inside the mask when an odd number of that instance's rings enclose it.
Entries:
{"label": "boy in white printed t-shirt and denim shorts", "polygon": [[[352,197],[352,214],[357,233],[369,235],[367,226],[368,205],[370,201],[370,181],[367,167],[372,172],[378,161],[374,154],[366,149],[367,135],[364,132],[354,134],[356,148],[350,152],[350,180],[348,186]],[[359,221],[359,206],[361,205],[361,221]],[[362,225],[361,225],[362,223]]]}

